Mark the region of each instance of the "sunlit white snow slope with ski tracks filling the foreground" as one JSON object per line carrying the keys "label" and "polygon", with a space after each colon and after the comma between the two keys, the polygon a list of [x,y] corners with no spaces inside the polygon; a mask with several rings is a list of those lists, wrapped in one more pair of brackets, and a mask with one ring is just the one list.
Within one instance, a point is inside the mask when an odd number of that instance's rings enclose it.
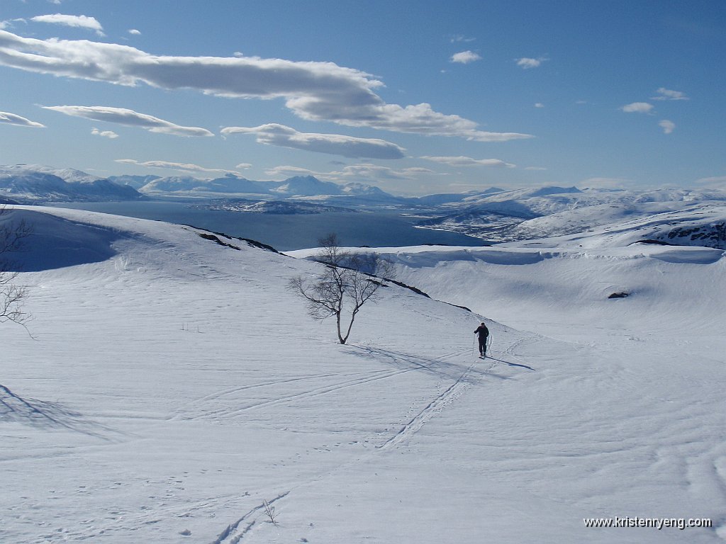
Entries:
{"label": "sunlit white snow slope with ski tracks filling the foreground", "polygon": [[[34,320],[0,326],[2,543],[726,538],[722,250],[381,250],[433,298],[383,289],[341,346],[286,289],[315,263],[15,213]],[[714,528],[582,521],[611,516]]]}

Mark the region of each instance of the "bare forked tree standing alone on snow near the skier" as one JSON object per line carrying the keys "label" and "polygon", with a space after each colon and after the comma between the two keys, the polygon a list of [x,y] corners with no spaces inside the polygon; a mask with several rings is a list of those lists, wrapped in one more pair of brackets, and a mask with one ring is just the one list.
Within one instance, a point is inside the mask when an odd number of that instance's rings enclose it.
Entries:
{"label": "bare forked tree standing alone on snow near the skier", "polygon": [[393,266],[375,253],[343,251],[335,234],[318,243],[315,260],[325,268],[311,280],[291,279],[289,287],[307,301],[311,318],[335,317],[338,340],[345,344],[362,306],[375,297],[382,279],[393,277]]}

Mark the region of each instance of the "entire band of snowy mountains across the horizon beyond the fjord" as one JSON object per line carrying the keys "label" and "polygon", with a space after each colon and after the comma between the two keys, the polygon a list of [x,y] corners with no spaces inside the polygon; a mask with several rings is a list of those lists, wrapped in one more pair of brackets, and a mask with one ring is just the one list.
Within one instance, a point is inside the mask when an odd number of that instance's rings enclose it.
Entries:
{"label": "entire band of snowy mountains across the horizon beyond the fjord", "polygon": [[[284,181],[253,181],[234,174],[208,180],[192,176],[99,178],[70,168],[0,166],[0,205],[154,197],[197,197],[200,205],[214,209],[275,214],[396,208],[420,216],[419,228],[452,231],[489,242],[569,236],[598,228],[614,232],[632,221],[642,222],[642,226],[638,223],[639,232],[644,239],[656,242],[683,244],[690,240],[722,247],[726,238],[726,189],[636,191],[545,186],[505,191],[492,187],[407,198],[367,184],[338,185],[314,176]],[[676,226],[669,215],[672,213],[685,214],[686,219]]]}

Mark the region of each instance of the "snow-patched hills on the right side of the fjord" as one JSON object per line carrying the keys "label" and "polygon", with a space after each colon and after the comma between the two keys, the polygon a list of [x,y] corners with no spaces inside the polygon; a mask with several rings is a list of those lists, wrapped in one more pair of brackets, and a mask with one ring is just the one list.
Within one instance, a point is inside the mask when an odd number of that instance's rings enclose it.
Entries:
{"label": "snow-patched hills on the right side of the fjord", "polygon": [[[676,228],[672,213],[684,216],[687,221]],[[468,234],[490,242],[566,236],[597,228],[615,231],[621,225],[637,222],[653,229],[650,234],[643,234],[644,239],[682,244],[693,235],[693,240],[705,241],[706,245],[718,243],[714,247],[722,247],[726,191],[544,187],[473,195],[461,202],[442,205],[433,215],[420,221],[418,226]],[[698,221],[699,216],[703,221]],[[647,231],[645,227],[639,226],[639,229],[641,233]]]}

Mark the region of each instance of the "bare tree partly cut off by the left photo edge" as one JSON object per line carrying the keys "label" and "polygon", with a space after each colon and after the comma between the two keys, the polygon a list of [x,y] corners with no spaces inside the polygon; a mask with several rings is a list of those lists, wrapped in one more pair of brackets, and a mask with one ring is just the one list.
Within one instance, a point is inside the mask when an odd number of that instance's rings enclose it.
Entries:
{"label": "bare tree partly cut off by the left photo edge", "polygon": [[17,285],[17,265],[9,255],[20,250],[23,239],[30,236],[31,228],[25,220],[14,221],[12,210],[0,205],[0,323],[12,321],[25,326],[30,314],[23,310],[28,288]]}

